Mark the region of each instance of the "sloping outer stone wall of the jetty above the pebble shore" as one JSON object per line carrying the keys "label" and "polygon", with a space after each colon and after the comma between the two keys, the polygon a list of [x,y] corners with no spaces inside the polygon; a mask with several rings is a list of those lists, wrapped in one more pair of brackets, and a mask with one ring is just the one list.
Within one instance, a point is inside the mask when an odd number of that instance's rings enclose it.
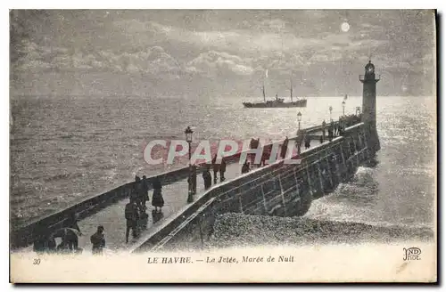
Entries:
{"label": "sloping outer stone wall of the jetty above the pebble shore", "polygon": [[280,160],[214,186],[132,252],[201,248],[217,216],[228,212],[304,215],[313,199],[348,181],[374,154],[364,124],[348,127],[343,136],[302,152],[300,164]]}

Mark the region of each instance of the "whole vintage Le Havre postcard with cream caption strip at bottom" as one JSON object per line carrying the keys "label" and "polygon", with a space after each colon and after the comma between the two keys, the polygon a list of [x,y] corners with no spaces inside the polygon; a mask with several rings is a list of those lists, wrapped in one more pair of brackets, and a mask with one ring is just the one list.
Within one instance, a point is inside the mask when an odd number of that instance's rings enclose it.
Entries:
{"label": "whole vintage Le Havre postcard with cream caption strip at bottom", "polygon": [[11,282],[437,282],[435,10],[10,33]]}

